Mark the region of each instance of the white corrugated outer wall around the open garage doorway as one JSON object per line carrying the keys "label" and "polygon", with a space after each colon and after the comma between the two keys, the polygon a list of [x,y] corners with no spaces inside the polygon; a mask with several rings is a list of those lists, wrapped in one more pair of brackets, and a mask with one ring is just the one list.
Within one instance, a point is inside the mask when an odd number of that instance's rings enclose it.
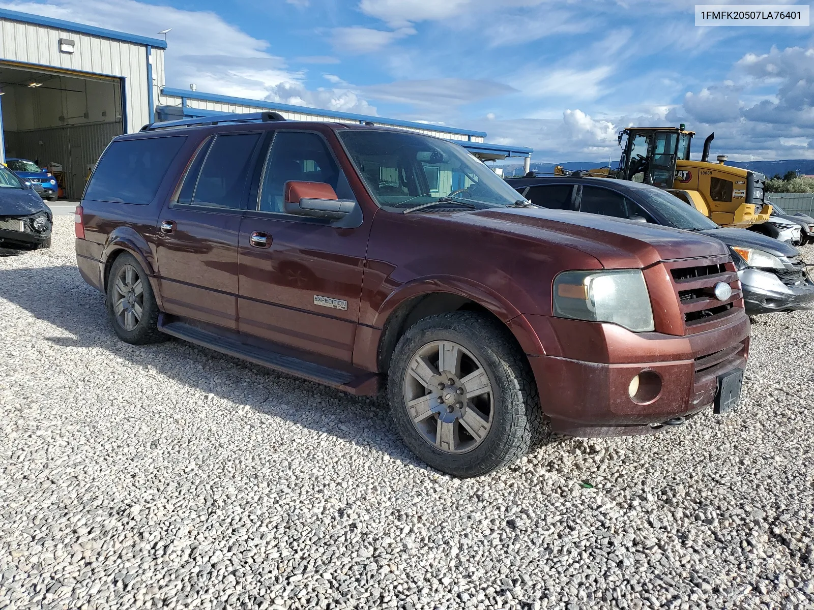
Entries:
{"label": "white corrugated outer wall around the open garage doorway", "polygon": [[[73,54],[59,52],[59,38],[75,41]],[[156,71],[159,74],[153,76],[160,78],[158,83],[163,84],[163,52],[159,52],[159,56],[160,68]],[[147,108],[146,46],[0,19],[0,59],[124,77],[128,132],[137,132],[151,120]]]}

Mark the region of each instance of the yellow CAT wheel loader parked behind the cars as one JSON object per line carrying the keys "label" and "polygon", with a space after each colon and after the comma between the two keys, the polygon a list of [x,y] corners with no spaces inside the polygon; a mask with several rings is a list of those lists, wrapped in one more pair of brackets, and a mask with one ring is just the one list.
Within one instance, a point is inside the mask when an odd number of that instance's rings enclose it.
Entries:
{"label": "yellow CAT wheel loader parked behind the cars", "polygon": [[[764,203],[766,176],[724,165],[726,155],[718,155],[718,163],[710,163],[715,133],[704,141],[701,160],[690,161],[689,146],[695,133],[684,127],[628,127],[619,132],[622,158],[618,170],[597,168],[580,174],[658,186],[722,227],[748,227],[768,220],[772,206]],[[561,166],[554,168],[554,174],[560,176],[573,173]]]}

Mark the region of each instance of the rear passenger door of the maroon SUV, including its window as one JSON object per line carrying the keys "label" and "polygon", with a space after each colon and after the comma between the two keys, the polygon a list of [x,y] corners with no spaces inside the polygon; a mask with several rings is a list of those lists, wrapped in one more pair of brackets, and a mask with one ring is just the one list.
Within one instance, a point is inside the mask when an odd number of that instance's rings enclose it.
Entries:
{"label": "rear passenger door of the maroon SUV, including its window", "polygon": [[238,327],[238,234],[260,133],[208,137],[158,219],[156,259],[169,314]]}

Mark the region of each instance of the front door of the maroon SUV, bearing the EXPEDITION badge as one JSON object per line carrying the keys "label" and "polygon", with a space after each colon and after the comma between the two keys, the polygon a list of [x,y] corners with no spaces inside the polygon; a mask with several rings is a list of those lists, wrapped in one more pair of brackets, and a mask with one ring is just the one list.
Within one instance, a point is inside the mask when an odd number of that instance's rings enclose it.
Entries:
{"label": "front door of the maroon SUV, bearing the EXPEDITION badge", "polygon": [[323,182],[356,199],[321,133],[274,135],[240,226],[240,332],[351,362],[370,219],[361,209],[339,224],[288,214],[287,181]]}

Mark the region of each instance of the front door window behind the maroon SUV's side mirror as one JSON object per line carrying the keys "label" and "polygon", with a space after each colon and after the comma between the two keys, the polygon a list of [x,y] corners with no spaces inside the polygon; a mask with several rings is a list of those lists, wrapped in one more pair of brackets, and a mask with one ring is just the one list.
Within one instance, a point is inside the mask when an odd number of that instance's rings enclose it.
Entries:
{"label": "front door window behind the maroon SUV's side mirror", "polygon": [[260,211],[285,213],[286,182],[322,182],[339,199],[356,199],[325,140],[318,133],[280,130],[274,134],[263,170]]}

